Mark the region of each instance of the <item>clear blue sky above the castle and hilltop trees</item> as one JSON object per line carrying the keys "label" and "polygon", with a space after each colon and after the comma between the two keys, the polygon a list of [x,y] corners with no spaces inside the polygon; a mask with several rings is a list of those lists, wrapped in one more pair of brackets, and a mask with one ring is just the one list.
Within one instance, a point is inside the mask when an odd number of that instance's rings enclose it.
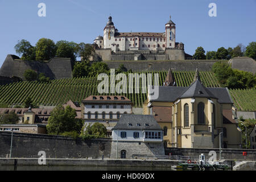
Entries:
{"label": "clear blue sky above the castle and hilltop trees", "polygon": [[[38,16],[38,4],[46,4],[46,17]],[[210,17],[209,3],[217,16]],[[108,16],[119,32],[164,32],[169,16],[176,24],[176,42],[193,55],[219,47],[247,46],[256,41],[256,0],[0,0],[0,66],[7,54],[15,54],[18,40],[32,46],[40,38],[93,43],[103,35]]]}

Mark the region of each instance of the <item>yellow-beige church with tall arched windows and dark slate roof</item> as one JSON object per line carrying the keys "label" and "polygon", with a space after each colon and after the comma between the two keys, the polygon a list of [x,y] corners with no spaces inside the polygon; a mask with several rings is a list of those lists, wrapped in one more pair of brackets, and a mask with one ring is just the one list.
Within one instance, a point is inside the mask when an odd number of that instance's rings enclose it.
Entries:
{"label": "yellow-beige church with tall arched windows and dark slate roof", "polygon": [[188,87],[171,86],[172,81],[167,78],[164,85],[170,86],[159,86],[159,97],[143,104],[143,114],[154,115],[166,130],[165,146],[218,148],[221,135],[222,148],[240,148],[241,133],[227,88],[205,88],[199,72]]}

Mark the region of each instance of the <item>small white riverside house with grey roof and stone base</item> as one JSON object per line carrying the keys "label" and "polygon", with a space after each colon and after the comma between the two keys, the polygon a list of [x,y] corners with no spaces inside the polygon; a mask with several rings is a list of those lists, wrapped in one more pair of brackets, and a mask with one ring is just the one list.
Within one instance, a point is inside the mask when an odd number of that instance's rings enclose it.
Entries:
{"label": "small white riverside house with grey roof and stone base", "polygon": [[163,131],[152,115],[123,114],[112,129],[111,158],[164,155]]}

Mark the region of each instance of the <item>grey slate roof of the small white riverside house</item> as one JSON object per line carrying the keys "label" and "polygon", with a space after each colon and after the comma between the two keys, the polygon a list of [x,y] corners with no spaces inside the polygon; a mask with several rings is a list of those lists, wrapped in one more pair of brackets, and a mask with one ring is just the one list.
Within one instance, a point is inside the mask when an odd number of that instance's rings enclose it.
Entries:
{"label": "grey slate roof of the small white riverside house", "polygon": [[[131,126],[129,126],[131,123]],[[137,126],[137,123],[140,126]],[[145,123],[148,126],[145,126]],[[113,127],[112,130],[162,130],[161,127],[156,122],[153,115],[144,114],[122,114],[121,118],[118,120],[117,125]]]}

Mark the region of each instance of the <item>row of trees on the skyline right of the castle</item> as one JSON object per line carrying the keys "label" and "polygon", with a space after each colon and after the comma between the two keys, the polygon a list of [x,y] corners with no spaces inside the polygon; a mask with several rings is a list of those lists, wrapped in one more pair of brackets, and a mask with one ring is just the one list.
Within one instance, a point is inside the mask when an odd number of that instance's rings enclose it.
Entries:
{"label": "row of trees on the skyline right of the castle", "polygon": [[196,60],[229,60],[233,57],[247,56],[256,60],[256,42],[251,42],[247,47],[238,44],[237,47],[229,47],[228,49],[220,47],[217,51],[207,51],[205,54],[203,47],[197,47],[193,59]]}

